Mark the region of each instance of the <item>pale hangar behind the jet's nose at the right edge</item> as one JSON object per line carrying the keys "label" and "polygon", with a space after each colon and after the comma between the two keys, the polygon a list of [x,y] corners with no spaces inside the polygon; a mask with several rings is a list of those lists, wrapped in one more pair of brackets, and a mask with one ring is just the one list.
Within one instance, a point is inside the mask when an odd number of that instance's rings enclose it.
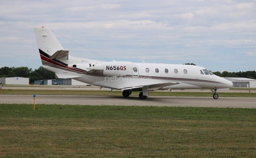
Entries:
{"label": "pale hangar behind the jet's nose at the right edge", "polygon": [[256,80],[244,77],[223,77],[233,83],[233,87],[256,88]]}

